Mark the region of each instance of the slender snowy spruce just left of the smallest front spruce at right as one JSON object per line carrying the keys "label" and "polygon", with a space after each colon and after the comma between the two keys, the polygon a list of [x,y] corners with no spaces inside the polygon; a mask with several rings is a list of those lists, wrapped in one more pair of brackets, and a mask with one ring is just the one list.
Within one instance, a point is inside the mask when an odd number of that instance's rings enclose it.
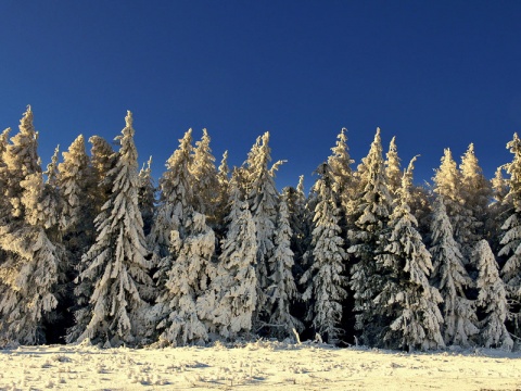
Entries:
{"label": "slender snowy spruce just left of the smallest front spruce at right", "polygon": [[466,288],[472,286],[472,280],[465,269],[442,197],[434,202],[429,250],[434,265],[432,280],[443,298],[445,343],[469,345],[469,338],[479,332],[475,303],[466,297]]}

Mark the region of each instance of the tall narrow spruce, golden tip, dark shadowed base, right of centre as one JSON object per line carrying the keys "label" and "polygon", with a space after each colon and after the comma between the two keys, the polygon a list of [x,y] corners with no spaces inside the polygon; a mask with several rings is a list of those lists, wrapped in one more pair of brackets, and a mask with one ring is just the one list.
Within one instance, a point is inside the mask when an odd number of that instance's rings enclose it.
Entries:
{"label": "tall narrow spruce, golden tip, dark shadowed base, right of centre", "polygon": [[350,286],[355,299],[355,327],[361,330],[364,343],[374,344],[374,338],[384,327],[373,302],[381,292],[383,282],[381,266],[376,256],[383,252],[384,243],[381,239],[387,229],[392,210],[380,128],[377,129],[369,153],[363,159],[358,173],[361,192],[353,200],[355,226],[348,231],[348,252],[354,257]]}

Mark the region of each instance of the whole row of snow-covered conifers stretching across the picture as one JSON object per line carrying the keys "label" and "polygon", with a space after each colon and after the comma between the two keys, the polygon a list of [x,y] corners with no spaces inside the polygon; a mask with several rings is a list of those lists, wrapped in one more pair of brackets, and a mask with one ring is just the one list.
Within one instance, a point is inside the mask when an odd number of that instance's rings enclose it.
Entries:
{"label": "whole row of snow-covered conifers stretching across the picture", "polygon": [[517,134],[492,180],[470,144],[420,186],[394,138],[355,166],[341,129],[306,194],[277,189],[269,133],[229,167],[189,129],[154,180],[130,112],[116,150],[80,135],[47,167],[33,115],[0,136],[0,348],[520,346]]}

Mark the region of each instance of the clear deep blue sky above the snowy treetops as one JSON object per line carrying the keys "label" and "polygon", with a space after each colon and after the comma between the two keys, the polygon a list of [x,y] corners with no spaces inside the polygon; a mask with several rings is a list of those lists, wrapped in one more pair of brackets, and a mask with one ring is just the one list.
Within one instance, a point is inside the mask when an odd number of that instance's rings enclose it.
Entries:
{"label": "clear deep blue sky above the snowy treetops", "polygon": [[27,104],[45,163],[128,109],[156,177],[189,127],[230,165],[269,130],[278,187],[309,187],[342,127],[358,163],[377,126],[417,181],[470,142],[491,177],[521,130],[521,1],[0,0],[0,130]]}

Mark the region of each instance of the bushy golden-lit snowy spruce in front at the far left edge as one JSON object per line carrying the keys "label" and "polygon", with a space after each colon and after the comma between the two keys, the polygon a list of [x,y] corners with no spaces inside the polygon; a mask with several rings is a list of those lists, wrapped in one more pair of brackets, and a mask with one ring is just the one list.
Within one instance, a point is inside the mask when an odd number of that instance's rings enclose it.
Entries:
{"label": "bushy golden-lit snowy spruce in front at the far left edge", "polygon": [[52,242],[49,230],[55,230],[58,212],[43,204],[46,187],[41,173],[23,180],[21,203],[25,215],[0,226],[0,242],[5,253],[0,264],[0,340],[22,343],[46,343],[46,326],[56,320],[58,287],[66,260],[59,242]]}

